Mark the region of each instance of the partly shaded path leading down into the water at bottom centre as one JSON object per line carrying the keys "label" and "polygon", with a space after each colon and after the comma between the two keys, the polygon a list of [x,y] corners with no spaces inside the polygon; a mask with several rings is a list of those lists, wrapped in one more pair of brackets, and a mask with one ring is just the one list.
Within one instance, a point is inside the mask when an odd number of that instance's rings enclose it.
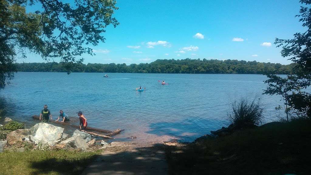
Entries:
{"label": "partly shaded path leading down into the water at bottom centre", "polygon": [[82,175],[166,175],[163,144],[112,142]]}

